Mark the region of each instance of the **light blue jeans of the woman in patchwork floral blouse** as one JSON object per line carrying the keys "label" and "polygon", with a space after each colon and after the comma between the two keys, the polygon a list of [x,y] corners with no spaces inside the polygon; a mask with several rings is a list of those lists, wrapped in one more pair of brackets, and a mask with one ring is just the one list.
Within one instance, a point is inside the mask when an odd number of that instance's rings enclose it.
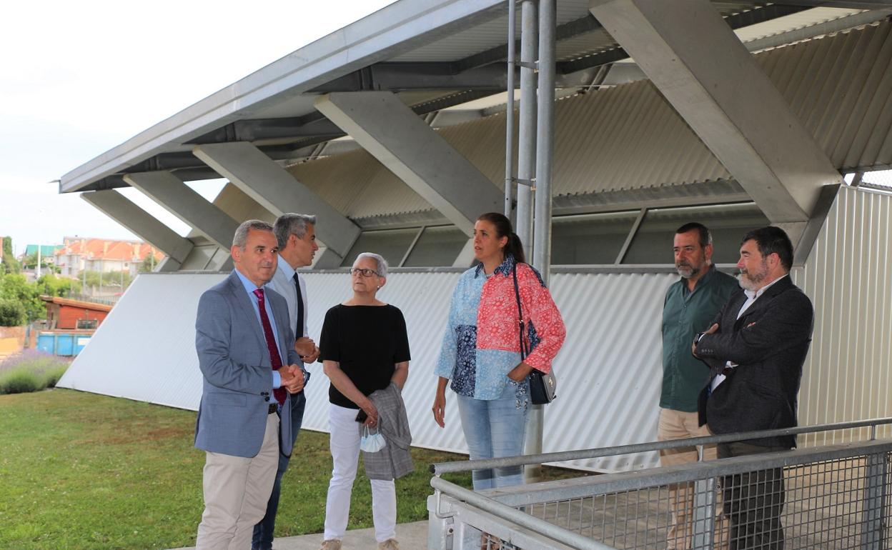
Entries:
{"label": "light blue jeans of the woman in patchwork floral blouse", "polygon": [[[518,456],[524,453],[526,408],[530,403],[529,382],[507,379],[498,399],[458,396],[458,415],[465,432],[471,460]],[[475,470],[474,490],[510,487],[524,482],[521,466]]]}

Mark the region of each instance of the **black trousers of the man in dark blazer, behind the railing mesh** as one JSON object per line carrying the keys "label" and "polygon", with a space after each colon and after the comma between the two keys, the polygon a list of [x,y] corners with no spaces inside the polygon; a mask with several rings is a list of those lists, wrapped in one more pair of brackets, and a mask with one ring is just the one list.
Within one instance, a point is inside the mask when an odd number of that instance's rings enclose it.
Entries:
{"label": "black trousers of the man in dark blazer, behind the railing mesh", "polygon": [[[718,457],[758,455],[786,451],[789,447],[763,447],[748,443],[719,443]],[[724,513],[731,526],[730,550],[782,550],[784,504],[783,469],[724,476]]]}

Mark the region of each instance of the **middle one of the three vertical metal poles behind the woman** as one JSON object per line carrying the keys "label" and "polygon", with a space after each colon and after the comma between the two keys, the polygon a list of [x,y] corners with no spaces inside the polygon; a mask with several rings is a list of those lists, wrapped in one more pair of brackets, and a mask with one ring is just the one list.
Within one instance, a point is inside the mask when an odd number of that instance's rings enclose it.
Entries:
{"label": "middle one of the three vertical metal poles behind the woman", "polygon": [[[524,0],[520,5],[522,34],[520,37],[520,120],[517,132],[517,179],[533,180],[536,154],[536,59],[538,42],[536,29],[536,3]],[[529,185],[517,185],[517,223],[515,226],[520,242],[527,254],[533,250],[533,189]]]}

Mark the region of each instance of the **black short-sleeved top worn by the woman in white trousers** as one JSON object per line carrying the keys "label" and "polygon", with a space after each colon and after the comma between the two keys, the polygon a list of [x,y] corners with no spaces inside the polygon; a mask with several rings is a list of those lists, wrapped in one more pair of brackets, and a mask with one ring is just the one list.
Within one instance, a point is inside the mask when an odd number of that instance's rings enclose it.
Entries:
{"label": "black short-sleeved top worn by the woman in white trousers", "polygon": [[[344,306],[326,312],[319,339],[319,357],[337,361],[363,395],[390,385],[395,363],[409,361],[406,320],[399,308],[387,306]],[[332,384],[328,400],[335,405],[358,409]]]}

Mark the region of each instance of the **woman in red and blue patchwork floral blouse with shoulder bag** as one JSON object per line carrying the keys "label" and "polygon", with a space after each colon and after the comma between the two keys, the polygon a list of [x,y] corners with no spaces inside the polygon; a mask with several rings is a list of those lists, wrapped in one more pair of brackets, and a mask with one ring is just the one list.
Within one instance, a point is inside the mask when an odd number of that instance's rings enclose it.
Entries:
{"label": "woman in red and blue patchwork floral blouse with shoulder bag", "polygon": [[[474,225],[480,264],[458,279],[435,374],[434,420],[443,426],[446,385],[458,395],[458,415],[471,459],[517,456],[524,451],[527,375],[548,373],[566,334],[564,321],[539,273],[524,263],[524,247],[505,216],[483,214]],[[529,355],[520,358],[513,270],[523,309]],[[520,466],[475,470],[474,488],[523,482]]]}

